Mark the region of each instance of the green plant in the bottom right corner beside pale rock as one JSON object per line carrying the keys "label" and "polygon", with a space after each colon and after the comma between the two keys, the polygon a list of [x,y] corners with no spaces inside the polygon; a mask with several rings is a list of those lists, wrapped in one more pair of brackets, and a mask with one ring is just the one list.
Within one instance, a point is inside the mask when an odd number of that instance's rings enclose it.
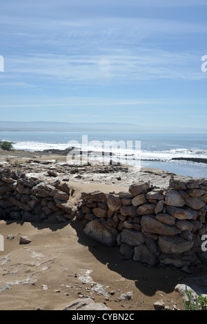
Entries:
{"label": "green plant in the bottom right corner beside pale rock", "polygon": [[184,310],[207,310],[207,298],[198,295],[193,296],[193,291],[188,290],[186,287],[186,296],[188,297],[188,301],[184,301]]}

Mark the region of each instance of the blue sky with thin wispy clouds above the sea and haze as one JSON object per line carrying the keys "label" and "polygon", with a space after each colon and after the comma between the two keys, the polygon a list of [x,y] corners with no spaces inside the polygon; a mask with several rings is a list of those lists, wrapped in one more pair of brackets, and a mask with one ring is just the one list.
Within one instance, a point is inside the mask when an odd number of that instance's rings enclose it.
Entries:
{"label": "blue sky with thin wispy clouds above the sea and haze", "polygon": [[1,1],[0,120],[207,130],[206,12],[207,0]]}

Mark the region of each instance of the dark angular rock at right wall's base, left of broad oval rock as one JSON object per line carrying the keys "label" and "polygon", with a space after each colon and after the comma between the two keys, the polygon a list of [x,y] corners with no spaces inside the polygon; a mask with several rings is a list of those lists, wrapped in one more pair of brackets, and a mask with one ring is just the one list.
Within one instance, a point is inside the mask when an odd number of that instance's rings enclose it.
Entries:
{"label": "dark angular rock at right wall's base, left of broad oval rock", "polygon": [[144,262],[148,265],[156,265],[157,257],[148,250],[145,244],[141,244],[139,246],[135,246],[133,261]]}

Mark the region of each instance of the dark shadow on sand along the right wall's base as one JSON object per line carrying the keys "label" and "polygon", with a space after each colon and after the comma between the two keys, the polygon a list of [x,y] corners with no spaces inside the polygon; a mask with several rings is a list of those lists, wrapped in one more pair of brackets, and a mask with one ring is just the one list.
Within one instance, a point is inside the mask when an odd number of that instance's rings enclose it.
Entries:
{"label": "dark shadow on sand along the right wall's base", "polygon": [[90,239],[83,232],[83,225],[79,219],[71,221],[70,225],[77,232],[78,242],[88,246],[88,250],[100,263],[106,265],[112,272],[117,272],[123,278],[134,281],[135,287],[147,296],[153,296],[157,291],[171,293],[182,279],[206,274],[206,265],[201,270],[195,268],[193,274],[186,274],[176,267],[160,267],[158,265],[150,267],[143,263],[124,259],[124,256],[121,256],[119,252],[119,247],[106,247]]}

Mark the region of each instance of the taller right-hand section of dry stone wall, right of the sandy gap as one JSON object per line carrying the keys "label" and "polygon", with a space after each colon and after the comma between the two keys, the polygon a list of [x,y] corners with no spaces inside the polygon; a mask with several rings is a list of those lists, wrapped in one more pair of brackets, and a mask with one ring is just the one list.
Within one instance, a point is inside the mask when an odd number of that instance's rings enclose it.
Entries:
{"label": "taller right-hand section of dry stone wall, right of the sandy gap", "polygon": [[133,183],[128,192],[83,192],[81,199],[84,232],[104,245],[118,245],[126,259],[148,265],[201,265],[206,179],[170,179],[167,189]]}

